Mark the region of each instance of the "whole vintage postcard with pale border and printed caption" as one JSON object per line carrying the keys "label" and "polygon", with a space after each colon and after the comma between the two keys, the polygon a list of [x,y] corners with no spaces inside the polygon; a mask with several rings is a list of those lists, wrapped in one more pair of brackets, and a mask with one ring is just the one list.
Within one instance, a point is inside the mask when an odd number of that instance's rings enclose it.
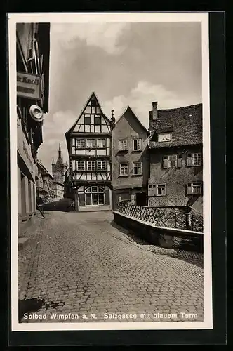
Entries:
{"label": "whole vintage postcard with pale border and printed caption", "polygon": [[208,13],[10,13],[13,331],[212,329]]}

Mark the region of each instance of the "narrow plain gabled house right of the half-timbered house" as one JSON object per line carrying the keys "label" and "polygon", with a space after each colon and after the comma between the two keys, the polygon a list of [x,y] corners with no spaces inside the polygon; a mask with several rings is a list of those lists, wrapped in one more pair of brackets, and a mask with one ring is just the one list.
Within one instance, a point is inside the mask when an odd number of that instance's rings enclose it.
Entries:
{"label": "narrow plain gabled house right of the half-timbered house", "polygon": [[148,138],[145,126],[127,107],[112,131],[113,208],[124,200],[147,206]]}

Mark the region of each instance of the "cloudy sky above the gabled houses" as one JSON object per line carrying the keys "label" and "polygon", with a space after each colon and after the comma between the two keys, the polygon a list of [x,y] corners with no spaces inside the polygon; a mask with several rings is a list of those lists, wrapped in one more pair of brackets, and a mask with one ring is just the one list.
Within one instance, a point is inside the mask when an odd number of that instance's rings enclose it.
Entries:
{"label": "cloudy sky above the gabled houses", "polygon": [[51,23],[49,112],[38,157],[69,163],[65,132],[95,91],[102,112],[116,120],[130,106],[148,128],[158,109],[201,101],[201,23]]}

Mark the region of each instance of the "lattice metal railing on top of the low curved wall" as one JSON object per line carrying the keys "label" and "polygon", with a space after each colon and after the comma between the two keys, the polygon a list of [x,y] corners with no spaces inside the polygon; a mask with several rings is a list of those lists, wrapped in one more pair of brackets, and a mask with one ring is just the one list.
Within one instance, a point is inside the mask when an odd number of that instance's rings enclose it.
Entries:
{"label": "lattice metal railing on top of the low curved wall", "polygon": [[203,216],[201,213],[185,213],[178,208],[142,207],[119,202],[116,211],[158,227],[170,227],[182,230],[203,232]]}

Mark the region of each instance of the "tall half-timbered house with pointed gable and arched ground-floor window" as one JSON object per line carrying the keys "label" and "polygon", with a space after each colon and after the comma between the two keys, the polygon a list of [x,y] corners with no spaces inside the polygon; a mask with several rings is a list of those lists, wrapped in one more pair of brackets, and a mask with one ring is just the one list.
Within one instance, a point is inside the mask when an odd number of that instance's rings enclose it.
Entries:
{"label": "tall half-timbered house with pointed gable and arched ground-floor window", "polygon": [[112,208],[112,121],[103,114],[95,93],[74,125],[65,133],[69,176],[76,211]]}

